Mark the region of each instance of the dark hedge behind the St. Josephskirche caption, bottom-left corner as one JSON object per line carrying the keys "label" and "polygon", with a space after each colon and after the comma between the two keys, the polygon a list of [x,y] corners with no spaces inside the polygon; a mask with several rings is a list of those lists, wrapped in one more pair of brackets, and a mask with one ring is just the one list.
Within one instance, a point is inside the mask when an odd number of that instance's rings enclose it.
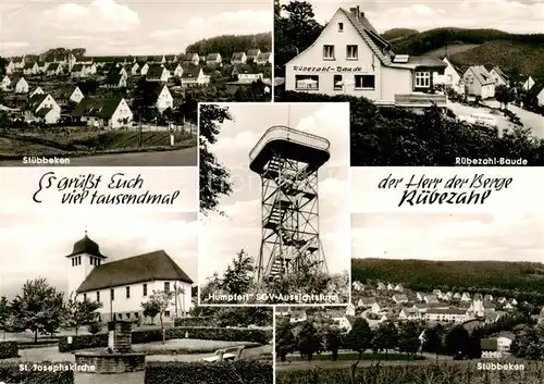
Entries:
{"label": "dark hedge behind the St. Josephskirche caption, bottom-left corner", "polygon": [[[21,367],[25,364],[24,367]],[[71,364],[71,362],[39,361],[32,362],[0,362],[0,382],[21,384],[73,384],[74,372],[62,370],[58,372],[35,371],[33,366],[47,367],[51,364]],[[23,369],[22,369],[23,368]],[[25,369],[26,368],[26,369]]]}

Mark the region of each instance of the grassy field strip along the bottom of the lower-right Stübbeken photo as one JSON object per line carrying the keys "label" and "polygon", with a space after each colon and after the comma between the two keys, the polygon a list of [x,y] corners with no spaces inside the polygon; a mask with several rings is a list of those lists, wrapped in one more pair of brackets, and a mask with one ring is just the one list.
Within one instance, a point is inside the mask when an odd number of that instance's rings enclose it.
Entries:
{"label": "grassy field strip along the bottom of the lower-right St\u00fcbbeken photo", "polygon": [[358,369],[279,372],[277,384],[542,384],[544,363],[524,363],[523,371],[479,369],[468,364],[387,366]]}

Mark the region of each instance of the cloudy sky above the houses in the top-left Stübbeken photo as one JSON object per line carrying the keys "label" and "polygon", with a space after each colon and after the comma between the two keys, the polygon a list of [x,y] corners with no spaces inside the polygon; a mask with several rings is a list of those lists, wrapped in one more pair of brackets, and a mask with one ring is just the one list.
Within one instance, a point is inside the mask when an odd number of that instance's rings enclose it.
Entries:
{"label": "cloudy sky above the houses in the top-left St\u00fcbbeken photo", "polygon": [[270,0],[2,0],[0,55],[86,48],[88,55],[181,53],[219,35],[272,30]]}

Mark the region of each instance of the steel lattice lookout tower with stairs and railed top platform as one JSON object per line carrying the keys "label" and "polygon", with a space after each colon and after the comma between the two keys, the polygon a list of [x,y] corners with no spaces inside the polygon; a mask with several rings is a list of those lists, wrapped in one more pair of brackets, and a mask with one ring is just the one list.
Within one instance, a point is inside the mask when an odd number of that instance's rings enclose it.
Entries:
{"label": "steel lattice lookout tower with stairs and railed top platform", "polygon": [[330,159],[327,139],[273,126],[249,153],[261,178],[262,239],[257,281],[301,271],[326,272],[319,237],[318,170]]}

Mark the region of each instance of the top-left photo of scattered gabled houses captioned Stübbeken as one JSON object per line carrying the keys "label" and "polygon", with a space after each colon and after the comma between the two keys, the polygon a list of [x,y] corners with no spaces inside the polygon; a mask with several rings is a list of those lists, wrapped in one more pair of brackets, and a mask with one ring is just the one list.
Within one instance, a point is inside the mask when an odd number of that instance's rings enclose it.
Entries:
{"label": "top-left photo of scattered gabled houses captioned St\u00fcbbeken", "polygon": [[0,166],[197,166],[198,102],[272,99],[268,0],[1,11]]}

